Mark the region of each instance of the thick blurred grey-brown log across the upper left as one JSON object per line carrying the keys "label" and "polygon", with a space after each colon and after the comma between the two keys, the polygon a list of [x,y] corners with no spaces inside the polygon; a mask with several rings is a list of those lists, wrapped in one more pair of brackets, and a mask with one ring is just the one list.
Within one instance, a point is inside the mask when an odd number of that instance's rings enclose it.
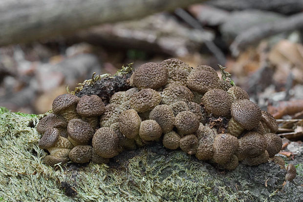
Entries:
{"label": "thick blurred grey-brown log across the upper left", "polygon": [[203,0],[2,0],[0,45],[29,42],[106,22],[170,11]]}

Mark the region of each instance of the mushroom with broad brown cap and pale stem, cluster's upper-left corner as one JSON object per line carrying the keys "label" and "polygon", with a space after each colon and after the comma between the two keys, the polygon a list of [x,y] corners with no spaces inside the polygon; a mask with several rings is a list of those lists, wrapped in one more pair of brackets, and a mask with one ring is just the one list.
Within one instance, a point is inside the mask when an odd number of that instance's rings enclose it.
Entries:
{"label": "mushroom with broad brown cap and pale stem, cluster's upper-left corner", "polygon": [[77,114],[76,107],[79,98],[71,94],[63,94],[55,98],[52,104],[53,113],[60,114],[67,121],[78,119],[80,116]]}

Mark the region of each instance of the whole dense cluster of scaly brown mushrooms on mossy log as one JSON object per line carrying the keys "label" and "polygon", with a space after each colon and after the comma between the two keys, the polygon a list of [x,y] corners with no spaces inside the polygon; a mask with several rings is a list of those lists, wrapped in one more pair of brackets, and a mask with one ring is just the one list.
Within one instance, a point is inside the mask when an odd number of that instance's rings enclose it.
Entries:
{"label": "whole dense cluster of scaly brown mushrooms on mossy log", "polygon": [[[281,150],[275,119],[210,66],[149,62],[132,73],[130,85],[109,103],[96,95],[58,96],[53,113],[37,126],[39,147],[49,151],[44,162],[106,163],[124,150],[161,141],[233,170],[240,161],[267,162]],[[211,120],[226,123],[222,129]]]}

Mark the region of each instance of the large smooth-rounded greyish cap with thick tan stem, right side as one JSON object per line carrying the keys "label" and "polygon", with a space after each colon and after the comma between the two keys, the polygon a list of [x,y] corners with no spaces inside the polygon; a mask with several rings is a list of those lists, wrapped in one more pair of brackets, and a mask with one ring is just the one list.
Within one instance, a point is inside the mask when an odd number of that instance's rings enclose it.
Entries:
{"label": "large smooth-rounded greyish cap with thick tan stem, right side", "polygon": [[232,118],[228,122],[228,132],[238,137],[244,129],[252,130],[258,126],[261,118],[260,107],[249,100],[238,100],[231,105]]}

